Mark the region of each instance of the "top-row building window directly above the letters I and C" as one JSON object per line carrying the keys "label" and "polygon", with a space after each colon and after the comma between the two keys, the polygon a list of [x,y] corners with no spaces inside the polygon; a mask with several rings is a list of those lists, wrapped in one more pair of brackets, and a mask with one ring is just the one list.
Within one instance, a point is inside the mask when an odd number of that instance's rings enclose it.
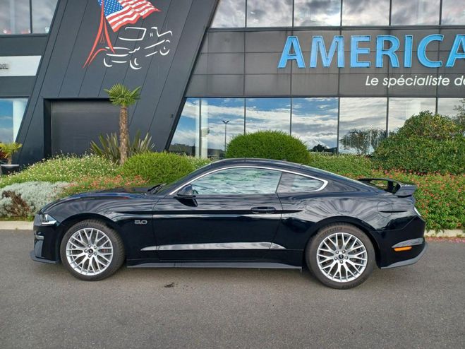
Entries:
{"label": "top-row building window directly above the letters I and C", "polygon": [[439,24],[439,10],[440,0],[392,0],[391,24]]}

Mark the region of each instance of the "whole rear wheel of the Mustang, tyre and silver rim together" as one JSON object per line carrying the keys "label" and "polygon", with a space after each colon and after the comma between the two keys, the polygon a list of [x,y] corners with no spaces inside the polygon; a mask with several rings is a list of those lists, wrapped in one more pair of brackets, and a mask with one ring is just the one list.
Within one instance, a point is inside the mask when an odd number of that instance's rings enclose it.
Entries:
{"label": "whole rear wheel of the Mustang, tyre and silver rim together", "polygon": [[354,288],[372,273],[375,249],[360,229],[336,223],[323,227],[310,239],[306,247],[306,262],[313,275],[324,285],[337,289]]}

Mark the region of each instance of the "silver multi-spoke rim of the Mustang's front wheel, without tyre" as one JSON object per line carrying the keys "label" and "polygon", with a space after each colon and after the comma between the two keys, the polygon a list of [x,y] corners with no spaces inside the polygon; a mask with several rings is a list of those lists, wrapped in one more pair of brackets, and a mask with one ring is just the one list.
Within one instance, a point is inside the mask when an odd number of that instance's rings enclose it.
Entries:
{"label": "silver multi-spoke rim of the Mustang's front wheel, without tyre", "polygon": [[93,227],[76,231],[66,243],[68,264],[83,276],[96,276],[105,271],[113,260],[113,254],[109,237]]}

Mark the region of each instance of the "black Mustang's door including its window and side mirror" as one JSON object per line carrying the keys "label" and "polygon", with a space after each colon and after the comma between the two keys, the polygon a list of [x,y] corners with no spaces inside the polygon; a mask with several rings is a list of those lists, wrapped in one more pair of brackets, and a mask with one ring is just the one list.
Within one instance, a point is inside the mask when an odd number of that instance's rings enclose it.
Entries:
{"label": "black Mustang's door including its window and side mirror", "polygon": [[282,215],[282,172],[228,167],[181,184],[155,206],[162,260],[253,261],[270,249]]}

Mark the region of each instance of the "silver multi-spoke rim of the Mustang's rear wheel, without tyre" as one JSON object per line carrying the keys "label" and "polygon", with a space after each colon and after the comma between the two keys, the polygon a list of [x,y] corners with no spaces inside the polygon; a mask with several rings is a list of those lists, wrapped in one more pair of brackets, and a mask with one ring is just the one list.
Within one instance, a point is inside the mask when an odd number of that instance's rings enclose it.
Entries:
{"label": "silver multi-spoke rim of the Mustang's rear wheel, without tyre", "polygon": [[348,232],[334,232],[320,242],[316,259],[320,271],[337,283],[349,283],[362,275],[368,263],[365,245]]}

